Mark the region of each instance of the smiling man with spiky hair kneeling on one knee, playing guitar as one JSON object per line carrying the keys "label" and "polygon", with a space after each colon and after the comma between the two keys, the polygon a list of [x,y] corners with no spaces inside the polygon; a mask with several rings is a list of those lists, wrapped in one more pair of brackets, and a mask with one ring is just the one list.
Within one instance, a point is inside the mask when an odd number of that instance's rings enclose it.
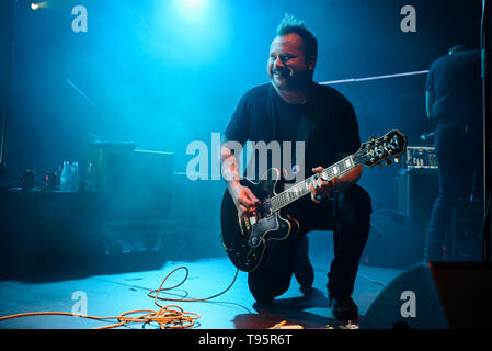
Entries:
{"label": "smiling man with spiky hair kneeling on one knee, playing guitar", "polygon": [[[295,161],[306,176],[320,172],[357,151],[361,141],[353,106],[340,92],[312,80],[317,55],[313,34],[304,22],[286,15],[270,48],[267,73],[271,82],[249,90],[240,99],[225,132],[227,141],[238,141],[242,146],[247,140],[305,141],[305,158]],[[225,143],[222,162],[234,157]],[[252,158],[250,165],[258,161],[254,155]],[[268,162],[271,165],[272,160]],[[238,211],[251,215],[259,201],[250,189],[239,183],[237,160],[227,165],[231,166],[222,169],[222,176],[228,181],[228,191]],[[357,306],[351,296],[371,213],[368,193],[356,184],[361,174],[362,166],[357,166],[331,182],[320,179],[311,186],[311,199],[304,197],[290,205],[289,213],[301,227],[299,249],[296,247],[297,252],[289,252],[296,260],[287,270],[278,270],[278,264],[288,263],[285,252],[275,252],[274,248],[268,264],[249,273],[249,287],[258,302],[271,303],[285,293],[293,273],[301,291],[309,291],[313,270],[308,259],[306,234],[314,229],[333,230],[334,259],[328,274],[330,305],[336,318],[357,317]],[[255,174],[255,178],[261,177]]]}

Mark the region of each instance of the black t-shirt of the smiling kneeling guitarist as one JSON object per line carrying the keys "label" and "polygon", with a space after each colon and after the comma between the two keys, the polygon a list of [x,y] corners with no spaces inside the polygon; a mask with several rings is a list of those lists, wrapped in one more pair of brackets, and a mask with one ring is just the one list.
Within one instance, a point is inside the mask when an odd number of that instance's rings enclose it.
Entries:
{"label": "black t-shirt of the smiling kneeling guitarist", "polygon": [[[271,83],[251,89],[240,99],[225,135],[241,145],[248,140],[293,143],[293,165],[305,167],[306,177],[312,174],[312,168],[331,166],[361,146],[352,104],[333,88],[314,82],[304,105],[285,102]],[[295,160],[295,141],[306,143],[305,163]],[[268,168],[272,165],[268,159]],[[282,168],[290,171],[289,166]],[[255,172],[251,178],[261,177]]]}

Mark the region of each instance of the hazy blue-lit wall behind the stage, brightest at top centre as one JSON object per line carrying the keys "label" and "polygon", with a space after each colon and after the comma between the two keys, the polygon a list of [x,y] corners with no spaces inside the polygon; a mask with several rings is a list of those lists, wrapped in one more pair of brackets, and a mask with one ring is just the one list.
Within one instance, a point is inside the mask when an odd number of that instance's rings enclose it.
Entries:
{"label": "hazy blue-lit wall behind the stage, brightest at top centre", "polygon": [[[456,44],[479,45],[481,1],[18,1],[5,161],[38,179],[64,160],[83,161],[89,133],[141,149],[172,151],[184,172],[193,140],[222,133],[240,97],[267,81],[266,59],[285,12],[305,20],[320,50],[314,79],[332,81],[428,69]],[[1,4],[2,107],[13,0]],[[88,32],[76,33],[76,5]],[[403,33],[404,5],[416,32]],[[401,128],[430,132],[425,76],[333,84],[353,103],[362,139]],[[377,207],[392,207],[396,167],[367,171]],[[217,181],[216,181],[217,182]],[[221,193],[210,190],[209,199]],[[215,208],[215,207],[214,207]],[[216,208],[215,208],[216,210]]]}

